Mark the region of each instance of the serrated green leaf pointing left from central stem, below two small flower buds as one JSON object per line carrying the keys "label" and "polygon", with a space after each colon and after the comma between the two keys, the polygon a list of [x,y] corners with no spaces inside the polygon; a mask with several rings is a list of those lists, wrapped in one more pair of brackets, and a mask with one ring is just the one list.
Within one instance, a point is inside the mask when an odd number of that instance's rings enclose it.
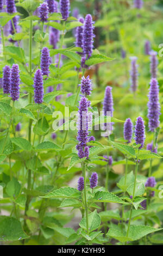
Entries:
{"label": "serrated green leaf pointing left from central stem, below two small flower buds", "polygon": [[44,198],[78,198],[80,192],[73,187],[59,188],[43,196]]}

